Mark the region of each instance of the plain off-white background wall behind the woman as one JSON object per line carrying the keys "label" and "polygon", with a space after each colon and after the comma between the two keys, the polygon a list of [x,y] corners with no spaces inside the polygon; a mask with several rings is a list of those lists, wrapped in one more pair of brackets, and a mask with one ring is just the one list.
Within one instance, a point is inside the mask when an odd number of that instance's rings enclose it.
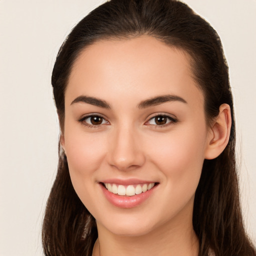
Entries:
{"label": "plain off-white background wall behind the woman", "polygon": [[[219,33],[230,68],[244,219],[256,240],[256,1],[184,0]],[[57,166],[50,85],[69,30],[102,0],[0,0],[0,255],[42,255]]]}

